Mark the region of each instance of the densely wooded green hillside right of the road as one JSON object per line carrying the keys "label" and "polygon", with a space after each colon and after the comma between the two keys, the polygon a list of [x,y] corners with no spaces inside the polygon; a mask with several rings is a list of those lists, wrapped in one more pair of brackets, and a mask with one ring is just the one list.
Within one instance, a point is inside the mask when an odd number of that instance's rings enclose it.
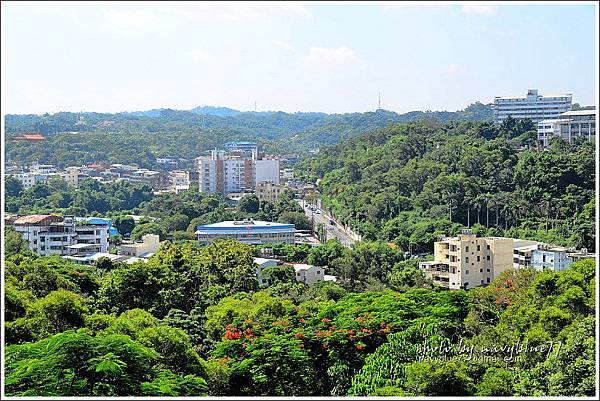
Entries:
{"label": "densely wooded green hillside right of the road", "polygon": [[530,121],[393,125],[298,165],[325,208],[364,239],[431,252],[440,234],[595,248],[595,148],[560,139],[538,151]]}

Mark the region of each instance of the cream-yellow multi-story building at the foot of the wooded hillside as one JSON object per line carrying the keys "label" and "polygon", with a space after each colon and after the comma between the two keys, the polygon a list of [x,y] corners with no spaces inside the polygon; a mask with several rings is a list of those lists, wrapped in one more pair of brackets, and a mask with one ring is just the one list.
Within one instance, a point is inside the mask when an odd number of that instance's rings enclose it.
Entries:
{"label": "cream-yellow multi-story building at the foot of the wooded hillside", "polygon": [[454,290],[490,283],[494,277],[513,267],[513,240],[476,237],[465,230],[457,237],[434,244],[434,260],[419,267],[434,282]]}

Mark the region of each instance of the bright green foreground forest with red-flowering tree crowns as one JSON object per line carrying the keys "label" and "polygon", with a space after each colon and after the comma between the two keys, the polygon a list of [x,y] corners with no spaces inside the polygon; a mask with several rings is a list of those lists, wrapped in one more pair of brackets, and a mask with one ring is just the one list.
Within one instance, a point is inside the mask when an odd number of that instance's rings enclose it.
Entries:
{"label": "bright green foreground forest with red-flowering tree crowns", "polygon": [[[363,291],[308,287],[282,268],[259,287],[257,250],[230,240],[93,266],[9,245],[9,396],[594,394],[593,260],[468,291]],[[339,249],[284,253],[327,263]]]}

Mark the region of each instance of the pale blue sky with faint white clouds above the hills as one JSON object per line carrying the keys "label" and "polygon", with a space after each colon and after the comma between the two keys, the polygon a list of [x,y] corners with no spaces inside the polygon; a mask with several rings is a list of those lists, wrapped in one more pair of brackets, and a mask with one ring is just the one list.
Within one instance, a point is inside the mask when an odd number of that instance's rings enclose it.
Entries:
{"label": "pale blue sky with faint white clouds above the hills", "polygon": [[595,7],[2,4],[5,113],[595,103]]}

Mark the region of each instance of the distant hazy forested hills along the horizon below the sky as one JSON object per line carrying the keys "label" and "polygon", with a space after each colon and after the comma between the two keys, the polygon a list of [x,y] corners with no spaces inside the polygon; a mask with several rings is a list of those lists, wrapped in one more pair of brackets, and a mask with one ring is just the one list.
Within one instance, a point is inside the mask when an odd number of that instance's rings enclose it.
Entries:
{"label": "distant hazy forested hills along the horizon below the sky", "polygon": [[[191,159],[230,140],[255,140],[272,152],[307,152],[322,145],[393,123],[419,119],[490,120],[491,108],[475,103],[458,112],[397,114],[239,112],[217,107],[188,111],[155,109],[140,112],[6,115],[6,151],[12,162],[40,161],[59,166],[93,160],[154,167],[156,156]],[[15,135],[37,131],[43,143],[13,143]]]}

